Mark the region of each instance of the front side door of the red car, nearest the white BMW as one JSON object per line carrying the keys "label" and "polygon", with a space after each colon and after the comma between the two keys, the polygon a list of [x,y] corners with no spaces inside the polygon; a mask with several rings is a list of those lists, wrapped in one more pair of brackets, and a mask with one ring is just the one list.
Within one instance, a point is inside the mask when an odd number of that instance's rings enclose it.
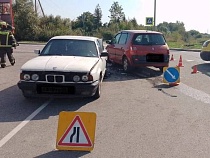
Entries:
{"label": "front side door of the red car, nearest the white BMW", "polygon": [[116,62],[116,48],[118,46],[118,42],[120,39],[121,33],[118,33],[111,41],[111,43],[106,47],[109,60],[112,62]]}

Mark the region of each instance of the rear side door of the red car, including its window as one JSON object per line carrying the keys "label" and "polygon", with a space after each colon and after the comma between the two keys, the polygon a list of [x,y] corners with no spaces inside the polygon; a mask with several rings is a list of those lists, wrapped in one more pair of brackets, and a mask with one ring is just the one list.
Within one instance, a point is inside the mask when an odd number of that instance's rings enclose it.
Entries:
{"label": "rear side door of the red car, including its window", "polygon": [[116,63],[122,64],[122,57],[125,53],[126,42],[128,39],[128,33],[121,33],[118,44],[115,46],[115,61]]}

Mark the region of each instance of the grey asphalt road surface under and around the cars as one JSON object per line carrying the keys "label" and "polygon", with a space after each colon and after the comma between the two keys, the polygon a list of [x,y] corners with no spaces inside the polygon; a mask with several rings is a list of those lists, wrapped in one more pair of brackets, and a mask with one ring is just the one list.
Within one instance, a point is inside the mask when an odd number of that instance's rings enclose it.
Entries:
{"label": "grey asphalt road surface under and around the cars", "polygon": [[[17,87],[20,67],[37,48],[20,45],[15,66],[0,68],[0,157],[210,157],[210,64],[199,52],[171,51],[171,67],[183,60],[178,86],[164,84],[156,68],[126,74],[109,64],[98,100],[26,100]],[[199,73],[191,74],[194,65]],[[91,152],[56,150],[61,111],[97,114]]]}

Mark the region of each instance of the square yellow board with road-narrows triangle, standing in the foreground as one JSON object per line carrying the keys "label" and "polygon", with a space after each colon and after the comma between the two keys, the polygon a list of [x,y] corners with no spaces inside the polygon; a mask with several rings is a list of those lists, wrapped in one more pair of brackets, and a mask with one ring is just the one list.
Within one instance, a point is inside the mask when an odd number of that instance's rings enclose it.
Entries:
{"label": "square yellow board with road-narrows triangle, standing in the foreground", "polygon": [[93,112],[60,112],[56,148],[91,151],[94,147],[96,114]]}

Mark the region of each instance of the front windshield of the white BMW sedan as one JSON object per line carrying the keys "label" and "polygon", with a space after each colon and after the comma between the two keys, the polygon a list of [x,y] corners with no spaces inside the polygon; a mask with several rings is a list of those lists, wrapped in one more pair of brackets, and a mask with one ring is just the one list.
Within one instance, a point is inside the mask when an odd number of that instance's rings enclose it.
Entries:
{"label": "front windshield of the white BMW sedan", "polygon": [[40,56],[98,57],[94,41],[76,39],[53,39],[47,43]]}

